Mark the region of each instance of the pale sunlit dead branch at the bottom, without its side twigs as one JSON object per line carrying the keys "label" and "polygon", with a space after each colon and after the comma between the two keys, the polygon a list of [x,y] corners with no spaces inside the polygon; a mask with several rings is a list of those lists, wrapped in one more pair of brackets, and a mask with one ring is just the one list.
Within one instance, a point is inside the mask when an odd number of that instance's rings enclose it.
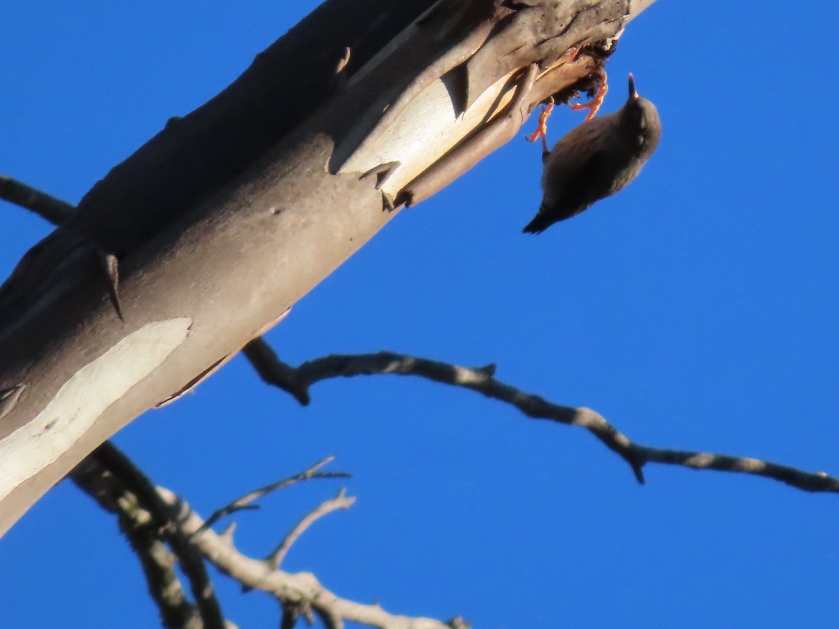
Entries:
{"label": "pale sunlit dead branch at the bottom, without its side twigs", "polygon": [[[291,606],[301,616],[310,609],[321,619],[339,618],[378,629],[451,629],[454,626],[430,618],[397,616],[378,605],[362,605],[341,599],[320,585],[314,574],[272,570],[262,559],[240,553],[230,539],[221,538],[204,526],[201,517],[179,496],[163,487],[158,487],[157,491],[161,499],[179,514],[175,524],[180,533],[190,538],[207,561],[248,589],[262,590],[274,596],[284,609]],[[287,621],[290,622],[290,619]]]}

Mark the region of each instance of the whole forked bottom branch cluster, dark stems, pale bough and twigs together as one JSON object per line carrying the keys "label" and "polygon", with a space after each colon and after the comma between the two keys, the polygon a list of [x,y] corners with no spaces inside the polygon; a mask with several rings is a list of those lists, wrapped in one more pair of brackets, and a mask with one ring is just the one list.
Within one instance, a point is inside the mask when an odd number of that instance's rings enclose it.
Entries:
{"label": "whole forked bottom branch cluster, dark stems, pale bough and twigs together", "polygon": [[[216,513],[224,512],[236,504],[241,507],[242,504],[264,496],[269,491],[276,491],[297,481],[325,476],[348,476],[341,472],[318,471],[334,458],[327,457],[300,474],[242,496]],[[213,616],[211,610],[207,609],[213,604],[218,609],[218,604],[212,593],[211,581],[203,569],[204,559],[237,580],[244,589],[262,590],[274,596],[283,608],[280,626],[289,629],[294,627],[300,616],[311,618],[313,613],[320,617],[326,626],[334,627],[343,626],[344,621],[358,622],[379,629],[451,629],[463,626],[453,624],[459,621],[460,617],[455,621],[443,623],[428,618],[395,616],[383,611],[378,605],[367,606],[338,598],[320,585],[313,574],[289,574],[272,567],[272,561],[275,561],[278,555],[279,561],[282,561],[283,555],[294,540],[299,538],[312,522],[327,512],[350,507],[355,502],[355,498],[344,496],[343,490],[338,496],[324,502],[305,516],[274,554],[268,560],[263,560],[239,553],[233,545],[232,526],[224,533],[216,534],[208,524],[209,519],[204,522],[179,496],[162,487],[155,487],[128,457],[111,444],[102,445],[87,457],[73,470],[72,478],[82,491],[96,499],[102,507],[116,512],[120,516],[121,527],[124,518],[138,522],[138,526],[123,530],[143,562],[149,590],[159,606],[164,626],[188,629],[233,627],[232,623],[226,623],[221,619],[221,611],[218,616]],[[216,521],[217,519],[216,517]],[[149,547],[149,551],[144,551],[143,548],[138,550],[133,543],[134,531],[137,528],[141,528],[144,535],[141,547]],[[180,559],[181,566],[190,579],[195,599],[199,601],[197,609],[185,600],[177,574],[172,569],[172,556],[164,548],[163,542],[168,543]],[[190,569],[190,564],[195,563],[194,560],[185,564],[185,556],[188,555],[198,560],[203,576],[195,574],[194,566]],[[200,596],[196,590],[203,591],[205,595]]]}

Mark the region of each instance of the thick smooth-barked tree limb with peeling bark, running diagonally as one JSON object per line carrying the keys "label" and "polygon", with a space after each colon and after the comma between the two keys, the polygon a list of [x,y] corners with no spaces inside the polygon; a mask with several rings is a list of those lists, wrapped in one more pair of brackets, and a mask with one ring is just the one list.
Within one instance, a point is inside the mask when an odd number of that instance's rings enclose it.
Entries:
{"label": "thick smooth-barked tree limb with peeling bark, running diagonally", "polygon": [[[0,533],[117,429],[273,325],[393,216],[383,196],[415,200],[410,182],[432,165],[477,162],[498,142],[475,134],[499,112],[520,121],[584,88],[645,6],[330,0],[169,121],[0,290]],[[382,164],[386,181],[361,178]],[[434,181],[421,196],[446,184]]]}

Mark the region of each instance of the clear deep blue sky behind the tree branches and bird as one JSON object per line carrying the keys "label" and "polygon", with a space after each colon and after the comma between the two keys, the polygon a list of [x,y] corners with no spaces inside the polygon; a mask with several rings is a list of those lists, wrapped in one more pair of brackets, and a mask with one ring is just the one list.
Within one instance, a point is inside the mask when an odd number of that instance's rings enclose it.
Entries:
{"label": "clear deep blue sky behind the tree branches and bird", "polygon": [[[215,95],[315,6],[254,0],[11,0],[0,22],[0,172],[77,202]],[[625,77],[664,135],[633,185],[542,236],[539,148],[516,139],[396,217],[268,335],[292,363],[389,349],[464,365],[631,438],[839,473],[839,20],[823,3],[659,0],[629,25]],[[558,110],[550,139],[581,112]],[[529,122],[528,130],[533,121]],[[50,227],[0,202],[0,273]],[[208,514],[337,453],[320,481],[237,517],[269,552],[346,485],[290,570],[389,611],[483,629],[835,626],[836,496],[649,466],[638,486],[580,429],[419,379],[331,381],[310,408],[236,359],[115,437]],[[223,577],[246,627],[276,606]],[[63,482],[0,541],[9,627],[155,626],[113,518]]]}

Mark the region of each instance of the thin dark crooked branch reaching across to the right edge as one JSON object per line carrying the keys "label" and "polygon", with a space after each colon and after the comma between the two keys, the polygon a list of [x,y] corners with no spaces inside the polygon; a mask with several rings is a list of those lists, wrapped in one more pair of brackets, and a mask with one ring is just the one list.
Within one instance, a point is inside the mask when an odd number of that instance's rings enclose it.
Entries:
{"label": "thin dark crooked branch reaching across to the right edge", "polygon": [[[289,366],[286,365],[285,368]],[[587,429],[609,450],[623,458],[632,468],[635,478],[642,484],[644,483],[644,465],[664,463],[682,465],[694,470],[717,470],[763,476],[804,491],[839,492],[839,479],[821,471],[810,473],[787,465],[747,457],[715,455],[691,450],[665,450],[635,444],[591,408],[573,408],[550,403],[538,395],[521,391],[496,380],[493,377],[494,365],[477,368],[463,367],[381,351],[378,354],[323,356],[307,361],[293,371],[291,380],[303,387],[304,391],[315,382],[328,378],[378,374],[420,376],[434,382],[472,389],[487,398],[511,404],[529,418],[550,419],[558,424],[581,426]]]}

